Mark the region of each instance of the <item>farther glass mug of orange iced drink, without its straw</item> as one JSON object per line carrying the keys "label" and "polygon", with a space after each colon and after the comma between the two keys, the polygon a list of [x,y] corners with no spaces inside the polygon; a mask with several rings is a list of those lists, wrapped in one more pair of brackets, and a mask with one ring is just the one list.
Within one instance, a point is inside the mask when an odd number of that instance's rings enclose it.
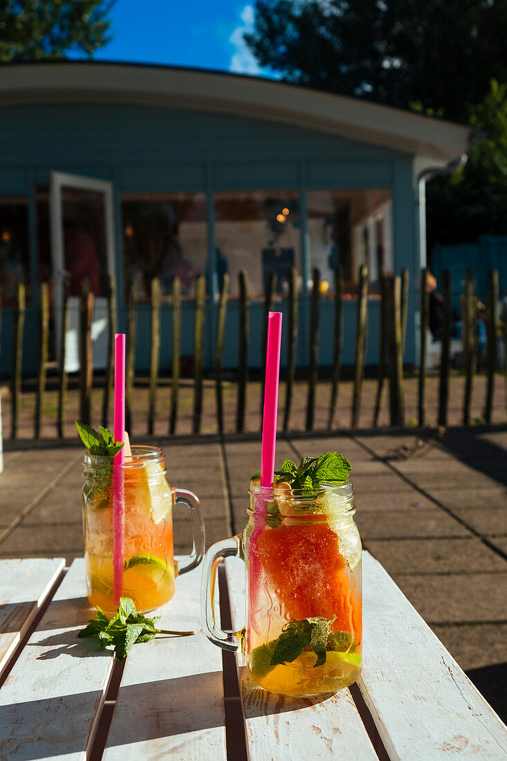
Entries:
{"label": "farther glass mug of orange iced drink, without its straw", "polygon": [[[85,454],[83,528],[88,600],[115,613],[113,600],[113,460]],[[116,467],[116,465],[115,465]],[[123,597],[146,612],[174,595],[176,575],[199,565],[204,529],[199,500],[175,490],[165,477],[164,454],[158,447],[132,447],[123,465]],[[193,552],[186,564],[174,562],[172,510],[183,503],[193,511]]]}

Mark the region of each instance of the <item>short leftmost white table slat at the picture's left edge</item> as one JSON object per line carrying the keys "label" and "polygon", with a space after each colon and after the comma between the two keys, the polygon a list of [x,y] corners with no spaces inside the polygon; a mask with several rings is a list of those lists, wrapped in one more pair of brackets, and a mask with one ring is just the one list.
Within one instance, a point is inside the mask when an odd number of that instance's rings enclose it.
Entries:
{"label": "short leftmost white table slat at the picture's left edge", "polygon": [[64,566],[62,558],[0,560],[0,674]]}

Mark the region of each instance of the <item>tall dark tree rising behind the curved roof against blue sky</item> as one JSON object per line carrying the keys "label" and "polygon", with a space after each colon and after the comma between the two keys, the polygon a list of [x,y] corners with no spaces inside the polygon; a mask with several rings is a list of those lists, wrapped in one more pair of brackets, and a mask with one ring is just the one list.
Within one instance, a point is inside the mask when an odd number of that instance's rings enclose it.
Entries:
{"label": "tall dark tree rising behind the curved roof against blue sky", "polygon": [[507,0],[257,0],[247,45],[285,81],[463,120],[507,81]]}

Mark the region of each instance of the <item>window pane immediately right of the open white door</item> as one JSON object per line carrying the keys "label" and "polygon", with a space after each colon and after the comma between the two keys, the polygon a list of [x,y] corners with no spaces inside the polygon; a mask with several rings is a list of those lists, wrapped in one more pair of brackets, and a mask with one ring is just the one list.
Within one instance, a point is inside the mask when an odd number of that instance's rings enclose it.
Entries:
{"label": "window pane immediately right of the open white door", "polygon": [[139,298],[148,299],[158,277],[171,295],[178,276],[182,295],[193,296],[208,254],[204,193],[123,196],[122,216],[126,288],[136,281]]}

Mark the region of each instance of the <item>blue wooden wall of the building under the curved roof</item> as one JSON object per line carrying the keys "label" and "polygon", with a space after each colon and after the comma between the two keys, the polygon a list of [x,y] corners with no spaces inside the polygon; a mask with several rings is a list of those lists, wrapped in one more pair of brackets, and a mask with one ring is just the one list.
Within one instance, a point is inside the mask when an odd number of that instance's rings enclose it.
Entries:
{"label": "blue wooden wall of the building under the curved roof", "polygon": [[[413,157],[324,132],[248,119],[221,113],[129,105],[88,103],[6,107],[0,110],[0,194],[24,194],[30,209],[30,273],[37,283],[37,234],[35,193],[37,184],[47,185],[53,170],[111,180],[116,209],[116,279],[123,293],[120,197],[122,193],[202,191],[208,194],[209,215],[212,194],[218,190],[297,189],[301,210],[301,258],[303,280],[309,274],[305,236],[305,197],[308,189],[361,189],[384,187],[393,197],[394,269],[410,271],[407,362],[416,361],[415,318],[418,253],[414,235]],[[212,233],[213,219],[209,218]],[[209,235],[209,254],[214,243]],[[24,342],[24,371],[37,365],[34,303],[27,312]],[[354,361],[356,304],[344,301],[343,363]],[[237,358],[237,303],[228,307],[225,339],[225,366]],[[279,307],[277,307],[279,308]],[[283,307],[282,307],[283,308]],[[262,304],[250,307],[252,330],[250,364],[260,364],[260,316]],[[206,320],[206,364],[213,365],[215,314],[209,304]],[[332,360],[333,304],[323,301],[320,330],[320,360]],[[378,302],[369,304],[368,363],[378,358]],[[9,366],[11,315],[5,310],[2,325],[2,374]],[[298,364],[308,363],[308,298],[301,298],[299,310]],[[120,303],[120,327],[126,327],[126,307]],[[139,306],[139,335],[148,328],[148,305]],[[171,366],[171,314],[163,310],[161,368]],[[191,304],[183,307],[183,355],[192,355],[193,314]],[[146,334],[147,335],[147,334]],[[284,358],[282,358],[284,361]],[[148,368],[147,342],[138,341],[137,366]]]}

